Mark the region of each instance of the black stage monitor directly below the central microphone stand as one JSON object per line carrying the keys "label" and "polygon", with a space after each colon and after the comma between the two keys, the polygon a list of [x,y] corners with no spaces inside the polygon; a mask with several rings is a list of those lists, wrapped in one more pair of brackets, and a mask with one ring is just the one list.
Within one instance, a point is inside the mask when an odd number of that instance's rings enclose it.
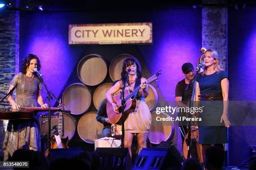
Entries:
{"label": "black stage monitor directly below the central microphone stand", "polygon": [[97,148],[102,170],[131,170],[132,161],[128,148]]}

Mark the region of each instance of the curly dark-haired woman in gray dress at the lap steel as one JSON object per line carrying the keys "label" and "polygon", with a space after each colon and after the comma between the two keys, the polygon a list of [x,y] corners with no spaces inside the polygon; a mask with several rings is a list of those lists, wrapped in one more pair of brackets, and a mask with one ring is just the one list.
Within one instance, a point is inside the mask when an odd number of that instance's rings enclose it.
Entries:
{"label": "curly dark-haired woman in gray dress at the lap steel", "polygon": [[[48,107],[41,96],[40,78],[34,72],[34,68],[40,70],[40,67],[38,57],[33,54],[27,55],[22,61],[22,72],[13,77],[9,87],[9,91],[13,87],[16,88],[16,99],[13,100],[12,95],[8,96],[13,110],[19,110],[20,106],[37,107],[37,102],[41,107]],[[36,119],[9,120],[3,143],[4,160],[8,160],[14,151],[20,148],[40,150],[40,134]]]}

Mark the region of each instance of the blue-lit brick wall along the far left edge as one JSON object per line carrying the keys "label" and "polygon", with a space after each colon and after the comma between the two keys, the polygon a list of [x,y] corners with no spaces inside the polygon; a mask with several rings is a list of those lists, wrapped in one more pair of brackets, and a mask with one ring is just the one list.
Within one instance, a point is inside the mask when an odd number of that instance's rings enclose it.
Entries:
{"label": "blue-lit brick wall along the far left edge", "polygon": [[[10,81],[19,71],[19,12],[0,11],[0,99],[8,91]],[[9,104],[4,100],[1,104]],[[0,120],[0,149],[8,121]],[[0,150],[0,157],[3,156]]]}

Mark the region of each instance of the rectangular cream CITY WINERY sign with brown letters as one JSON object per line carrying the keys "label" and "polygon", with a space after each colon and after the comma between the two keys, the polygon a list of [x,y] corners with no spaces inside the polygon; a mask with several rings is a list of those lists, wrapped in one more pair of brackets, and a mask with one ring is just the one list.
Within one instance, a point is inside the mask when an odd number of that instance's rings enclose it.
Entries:
{"label": "rectangular cream CITY WINERY sign with brown letters", "polygon": [[69,44],[152,43],[152,23],[69,25]]}

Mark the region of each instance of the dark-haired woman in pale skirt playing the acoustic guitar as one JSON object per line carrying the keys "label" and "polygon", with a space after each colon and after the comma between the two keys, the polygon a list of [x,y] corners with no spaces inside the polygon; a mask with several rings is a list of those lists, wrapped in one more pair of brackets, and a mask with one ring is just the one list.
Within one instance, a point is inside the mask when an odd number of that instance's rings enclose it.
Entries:
{"label": "dark-haired woman in pale skirt playing the acoustic guitar", "polygon": [[145,98],[148,96],[148,85],[143,82],[146,82],[146,78],[141,77],[141,72],[138,70],[138,65],[135,60],[131,58],[127,58],[123,62],[123,68],[121,73],[121,80],[113,87],[106,92],[106,98],[108,102],[111,103],[113,110],[118,112],[118,106],[112,100],[112,95],[118,90],[123,88],[127,71],[131,69],[130,74],[128,75],[128,83],[125,89],[133,91],[136,86],[141,86],[141,90],[137,93],[137,107],[131,112],[127,119],[124,122],[125,127],[125,136],[124,136],[124,147],[128,148],[129,153],[131,155],[131,145],[133,141],[133,135],[136,134],[138,140],[138,152],[142,150],[142,148],[146,148],[146,138],[147,133],[151,125],[151,113],[148,109],[148,105],[145,102]]}

